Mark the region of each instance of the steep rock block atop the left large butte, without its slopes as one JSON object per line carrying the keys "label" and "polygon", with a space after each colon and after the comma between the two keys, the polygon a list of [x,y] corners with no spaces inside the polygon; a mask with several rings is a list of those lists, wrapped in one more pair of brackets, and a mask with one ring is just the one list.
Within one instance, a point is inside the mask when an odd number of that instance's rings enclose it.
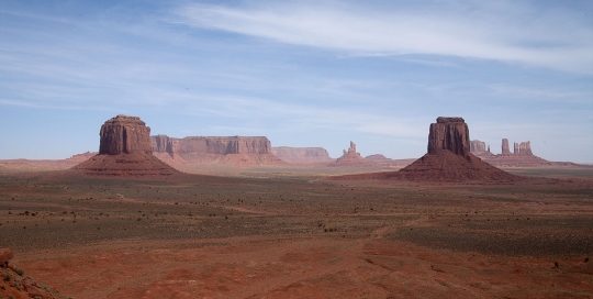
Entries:
{"label": "steep rock block atop the left large butte, without its slopes", "polygon": [[153,153],[150,148],[150,128],[138,117],[120,114],[101,126],[100,155],[131,154],[134,152]]}

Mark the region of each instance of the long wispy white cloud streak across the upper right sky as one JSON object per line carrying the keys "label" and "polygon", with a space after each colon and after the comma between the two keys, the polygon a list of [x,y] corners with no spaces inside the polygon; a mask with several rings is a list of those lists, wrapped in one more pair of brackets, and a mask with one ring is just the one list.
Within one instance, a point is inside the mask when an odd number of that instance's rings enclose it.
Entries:
{"label": "long wispy white cloud streak across the upper right sky", "polygon": [[593,29],[558,7],[541,10],[510,1],[394,3],[384,10],[335,1],[187,4],[169,21],[360,55],[445,55],[593,73]]}

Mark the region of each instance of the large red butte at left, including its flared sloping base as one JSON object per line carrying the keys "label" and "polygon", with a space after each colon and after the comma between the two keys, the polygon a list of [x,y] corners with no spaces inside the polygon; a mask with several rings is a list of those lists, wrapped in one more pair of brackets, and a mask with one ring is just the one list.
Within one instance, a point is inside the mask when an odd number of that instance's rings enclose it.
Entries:
{"label": "large red butte at left, including its flared sloping base", "polygon": [[168,176],[178,173],[153,155],[150,128],[137,117],[118,115],[101,126],[99,154],[72,167],[89,176]]}

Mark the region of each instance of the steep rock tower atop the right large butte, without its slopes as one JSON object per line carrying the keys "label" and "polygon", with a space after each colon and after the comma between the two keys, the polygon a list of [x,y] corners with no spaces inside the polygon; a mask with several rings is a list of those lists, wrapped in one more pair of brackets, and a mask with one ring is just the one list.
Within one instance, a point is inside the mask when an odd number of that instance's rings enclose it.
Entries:
{"label": "steep rock tower atop the right large butte, without its slopes", "polygon": [[462,118],[437,118],[437,122],[430,124],[427,150],[430,155],[448,150],[456,155],[468,156],[470,143],[466,121]]}

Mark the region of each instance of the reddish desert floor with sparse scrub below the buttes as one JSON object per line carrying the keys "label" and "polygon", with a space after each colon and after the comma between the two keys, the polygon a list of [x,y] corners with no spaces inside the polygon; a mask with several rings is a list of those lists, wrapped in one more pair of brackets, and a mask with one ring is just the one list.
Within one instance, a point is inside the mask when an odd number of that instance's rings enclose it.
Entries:
{"label": "reddish desert floor with sparse scrub below the buttes", "polygon": [[546,171],[0,175],[0,246],[74,298],[593,298],[593,179]]}

